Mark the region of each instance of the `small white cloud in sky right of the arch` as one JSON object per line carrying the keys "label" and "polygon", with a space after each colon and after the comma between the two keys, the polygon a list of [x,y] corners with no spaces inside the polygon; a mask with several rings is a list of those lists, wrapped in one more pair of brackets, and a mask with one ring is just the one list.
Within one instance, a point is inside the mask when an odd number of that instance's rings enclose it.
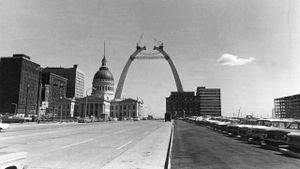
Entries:
{"label": "small white cloud in sky right of the arch", "polygon": [[225,53],[217,60],[217,62],[224,66],[240,66],[240,65],[245,65],[247,63],[250,63],[254,60],[255,58],[253,57],[245,59],[245,58],[240,58],[238,56]]}

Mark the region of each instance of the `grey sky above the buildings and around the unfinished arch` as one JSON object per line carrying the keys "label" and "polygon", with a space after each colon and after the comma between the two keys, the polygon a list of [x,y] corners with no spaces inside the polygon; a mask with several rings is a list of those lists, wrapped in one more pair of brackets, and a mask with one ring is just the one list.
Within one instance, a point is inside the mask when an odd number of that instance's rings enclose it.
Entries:
{"label": "grey sky above the buildings and around the unfinished arch", "polygon": [[[300,93],[297,0],[1,0],[0,55],[24,53],[42,66],[86,73],[101,66],[117,85],[136,42],[164,42],[185,91],[221,88],[222,114],[270,117],[273,99]],[[139,97],[162,116],[176,85],[164,60],[135,60],[123,97]]]}

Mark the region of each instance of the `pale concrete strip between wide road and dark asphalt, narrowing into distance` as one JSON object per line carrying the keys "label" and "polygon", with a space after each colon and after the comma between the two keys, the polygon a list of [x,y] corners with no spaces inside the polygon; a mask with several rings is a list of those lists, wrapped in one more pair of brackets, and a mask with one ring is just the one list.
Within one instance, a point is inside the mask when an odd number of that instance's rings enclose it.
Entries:
{"label": "pale concrete strip between wide road and dark asphalt, narrowing into distance", "polygon": [[171,130],[172,123],[166,122],[102,169],[163,169],[167,158]]}

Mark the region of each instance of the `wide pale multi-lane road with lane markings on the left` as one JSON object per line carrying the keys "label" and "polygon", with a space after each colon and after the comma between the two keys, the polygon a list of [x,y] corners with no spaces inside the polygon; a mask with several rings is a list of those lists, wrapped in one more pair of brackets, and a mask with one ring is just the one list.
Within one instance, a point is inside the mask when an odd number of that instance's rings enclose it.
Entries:
{"label": "wide pale multi-lane road with lane markings on the left", "polygon": [[101,168],[155,132],[163,121],[14,126],[0,151],[26,151],[30,168]]}

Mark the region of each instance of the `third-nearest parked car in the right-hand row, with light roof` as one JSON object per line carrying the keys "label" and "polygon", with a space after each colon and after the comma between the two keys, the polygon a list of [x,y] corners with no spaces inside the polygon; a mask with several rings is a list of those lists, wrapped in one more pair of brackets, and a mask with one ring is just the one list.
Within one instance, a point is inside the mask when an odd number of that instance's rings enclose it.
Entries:
{"label": "third-nearest parked car in the right-hand row, with light roof", "polygon": [[252,126],[248,131],[248,142],[261,145],[269,130],[274,130],[274,128],[284,129],[291,124],[291,122],[293,122],[293,120],[290,119],[258,120],[257,125]]}

